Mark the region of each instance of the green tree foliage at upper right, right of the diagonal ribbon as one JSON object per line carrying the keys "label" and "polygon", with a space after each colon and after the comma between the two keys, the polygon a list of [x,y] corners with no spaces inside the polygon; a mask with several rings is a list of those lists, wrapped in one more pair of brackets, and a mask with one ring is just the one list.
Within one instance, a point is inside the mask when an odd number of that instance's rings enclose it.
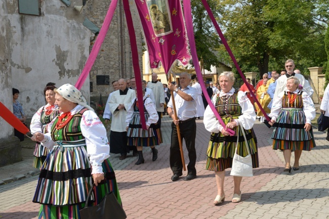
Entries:
{"label": "green tree foliage at upper right, right of the diagonal ribbon", "polygon": [[[326,62],[329,1],[224,0],[217,8],[218,22],[244,72],[279,71],[287,59],[302,72]],[[228,59],[223,47],[221,56]]]}

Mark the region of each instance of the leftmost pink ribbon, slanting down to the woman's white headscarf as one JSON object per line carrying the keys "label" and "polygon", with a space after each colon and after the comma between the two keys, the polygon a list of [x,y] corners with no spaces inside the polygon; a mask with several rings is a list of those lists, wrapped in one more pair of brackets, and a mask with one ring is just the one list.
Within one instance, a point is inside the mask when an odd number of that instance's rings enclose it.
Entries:
{"label": "leftmost pink ribbon, slanting down to the woman's white headscarf", "polygon": [[96,38],[96,41],[95,41],[95,44],[92,48],[92,51],[89,54],[86,65],[85,65],[84,69],[82,70],[80,77],[78,78],[77,82],[74,85],[78,90],[80,90],[81,87],[84,85],[84,83],[85,83],[85,81],[86,81],[86,79],[89,75],[89,72],[90,72],[90,70],[92,69],[92,67],[95,63],[98,52],[101,49],[101,46],[102,46],[102,43],[105,39],[106,33],[107,33],[107,31],[110,27],[110,24],[111,24],[113,15],[114,15],[114,11],[115,11],[115,8],[116,8],[116,4],[117,4],[117,0],[112,0],[111,1],[111,5],[110,5],[110,7],[107,11],[107,14],[105,16],[104,23],[101,27],[101,30],[99,31],[99,34],[98,34],[98,36]]}

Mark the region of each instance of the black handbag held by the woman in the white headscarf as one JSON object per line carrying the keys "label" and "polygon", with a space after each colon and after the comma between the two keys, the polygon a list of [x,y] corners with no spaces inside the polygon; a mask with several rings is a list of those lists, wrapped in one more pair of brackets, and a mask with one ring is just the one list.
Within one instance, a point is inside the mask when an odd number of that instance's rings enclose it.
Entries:
{"label": "black handbag held by the woman in the white headscarf", "polygon": [[80,217],[81,219],[105,219],[105,218],[113,218],[113,219],[124,219],[127,218],[127,215],[122,209],[121,205],[117,201],[113,192],[110,192],[104,196],[102,201],[96,206],[88,206],[89,198],[92,194],[93,184],[91,190],[88,193],[86,206],[80,209]]}

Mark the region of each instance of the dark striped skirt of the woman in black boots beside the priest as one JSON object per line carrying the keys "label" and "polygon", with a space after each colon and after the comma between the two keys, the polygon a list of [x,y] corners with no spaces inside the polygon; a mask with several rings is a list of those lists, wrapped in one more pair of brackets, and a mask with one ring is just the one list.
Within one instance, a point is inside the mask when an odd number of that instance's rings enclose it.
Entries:
{"label": "dark striped skirt of the woman in black boots beside the priest", "polygon": [[[148,119],[148,114],[145,113],[145,121]],[[151,124],[147,130],[142,129],[139,112],[134,112],[134,115],[129,123],[128,131],[129,146],[155,146],[162,143],[162,133],[158,124]]]}

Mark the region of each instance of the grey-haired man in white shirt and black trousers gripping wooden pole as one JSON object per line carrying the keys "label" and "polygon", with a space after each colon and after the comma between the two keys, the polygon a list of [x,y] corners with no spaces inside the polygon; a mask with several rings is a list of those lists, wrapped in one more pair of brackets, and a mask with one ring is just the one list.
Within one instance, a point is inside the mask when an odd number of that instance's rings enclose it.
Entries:
{"label": "grey-haired man in white shirt and black trousers gripping wooden pole", "polygon": [[189,85],[191,82],[190,74],[186,72],[181,73],[179,80],[180,88],[176,88],[172,83],[168,85],[168,89],[174,94],[168,102],[167,110],[169,116],[173,119],[170,146],[170,167],[174,174],[172,176],[172,181],[177,181],[179,177],[183,175],[183,168],[185,169],[185,167],[183,167],[185,166],[185,164],[183,165],[184,155],[181,153],[181,141],[184,138],[190,160],[187,165],[187,176],[184,178],[185,181],[188,181],[196,178],[195,114],[198,94],[197,90]]}

